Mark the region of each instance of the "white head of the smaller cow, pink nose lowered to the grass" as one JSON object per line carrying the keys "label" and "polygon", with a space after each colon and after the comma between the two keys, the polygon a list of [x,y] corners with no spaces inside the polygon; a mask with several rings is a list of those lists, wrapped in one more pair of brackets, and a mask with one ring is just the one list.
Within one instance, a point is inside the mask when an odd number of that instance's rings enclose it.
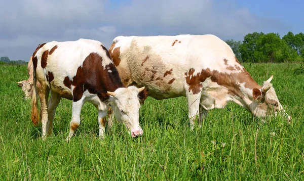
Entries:
{"label": "white head of the smaller cow, pink nose lowered to the grass", "polygon": [[110,95],[110,105],[117,120],[126,125],[133,138],[143,134],[139,125],[139,101],[143,102],[147,94],[140,94],[141,92],[146,92],[145,87],[129,86],[118,88],[115,92],[107,92]]}

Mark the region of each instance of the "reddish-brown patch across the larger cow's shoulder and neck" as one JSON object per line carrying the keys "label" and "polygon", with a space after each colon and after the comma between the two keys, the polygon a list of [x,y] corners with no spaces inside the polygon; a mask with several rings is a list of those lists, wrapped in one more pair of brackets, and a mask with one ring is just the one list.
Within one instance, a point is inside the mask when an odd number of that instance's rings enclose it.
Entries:
{"label": "reddish-brown patch across the larger cow's shoulder and neck", "polygon": [[241,92],[239,83],[245,83],[246,88],[260,88],[250,74],[243,68],[242,72],[239,73],[222,73],[217,70],[211,71],[209,68],[202,69],[201,72],[194,74],[194,69],[189,69],[185,73],[186,83],[189,85],[189,92],[192,91],[193,94],[199,94],[202,91],[202,84],[208,77],[211,81],[216,82],[218,85],[222,85],[228,89],[228,94],[239,96],[240,98],[244,97],[244,94]]}

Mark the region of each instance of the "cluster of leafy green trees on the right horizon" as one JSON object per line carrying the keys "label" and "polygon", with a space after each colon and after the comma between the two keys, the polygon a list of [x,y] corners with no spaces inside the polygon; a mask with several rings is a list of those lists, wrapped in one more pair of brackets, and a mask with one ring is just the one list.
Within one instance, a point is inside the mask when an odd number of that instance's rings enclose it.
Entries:
{"label": "cluster of leafy green trees on the right horizon", "polygon": [[304,61],[304,33],[288,32],[282,38],[278,33],[253,32],[243,41],[225,41],[242,62],[295,62]]}

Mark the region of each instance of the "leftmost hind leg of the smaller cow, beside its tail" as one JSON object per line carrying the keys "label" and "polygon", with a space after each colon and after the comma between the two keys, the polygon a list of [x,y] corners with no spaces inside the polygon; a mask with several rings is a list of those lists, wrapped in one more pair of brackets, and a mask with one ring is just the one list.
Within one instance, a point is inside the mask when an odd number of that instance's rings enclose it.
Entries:
{"label": "leftmost hind leg of the smaller cow, beside its tail", "polygon": [[41,107],[42,139],[45,140],[48,128],[48,100],[50,88],[44,84],[41,84],[41,86],[37,87],[37,92]]}

